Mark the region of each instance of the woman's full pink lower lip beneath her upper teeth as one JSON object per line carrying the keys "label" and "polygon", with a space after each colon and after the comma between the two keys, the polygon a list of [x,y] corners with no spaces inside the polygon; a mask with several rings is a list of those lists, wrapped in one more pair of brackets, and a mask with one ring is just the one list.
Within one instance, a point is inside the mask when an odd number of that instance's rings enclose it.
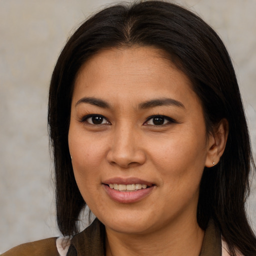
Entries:
{"label": "woman's full pink lower lip beneath her upper teeth", "polygon": [[103,185],[108,196],[114,201],[117,201],[120,203],[131,203],[131,202],[139,201],[144,197],[146,197],[149,193],[151,193],[154,188],[154,185],[152,185],[150,187],[142,188],[136,191],[133,190],[129,192],[124,192],[124,191],[119,191],[119,190],[110,188],[108,185],[105,185],[105,184]]}

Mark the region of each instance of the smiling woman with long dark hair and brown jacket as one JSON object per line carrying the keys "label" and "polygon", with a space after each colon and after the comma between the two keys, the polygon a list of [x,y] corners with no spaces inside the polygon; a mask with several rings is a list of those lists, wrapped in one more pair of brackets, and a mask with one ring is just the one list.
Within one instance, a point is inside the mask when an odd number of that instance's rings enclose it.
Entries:
{"label": "smiling woman with long dark hair and brown jacket", "polygon": [[[54,68],[48,123],[65,238],[3,255],[256,255],[236,77],[193,13],[145,1],[85,21]],[[97,218],[78,233],[85,203]]]}

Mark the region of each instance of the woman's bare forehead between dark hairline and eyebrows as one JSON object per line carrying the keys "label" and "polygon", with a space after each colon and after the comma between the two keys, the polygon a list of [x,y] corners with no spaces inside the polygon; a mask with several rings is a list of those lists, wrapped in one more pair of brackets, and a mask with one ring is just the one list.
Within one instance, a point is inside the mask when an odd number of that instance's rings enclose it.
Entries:
{"label": "woman's bare forehead between dark hairline and eyebrows", "polygon": [[[98,96],[135,99],[197,96],[187,76],[153,47],[110,48],[93,55],[80,68],[73,97]],[[177,99],[178,100],[178,99]]]}

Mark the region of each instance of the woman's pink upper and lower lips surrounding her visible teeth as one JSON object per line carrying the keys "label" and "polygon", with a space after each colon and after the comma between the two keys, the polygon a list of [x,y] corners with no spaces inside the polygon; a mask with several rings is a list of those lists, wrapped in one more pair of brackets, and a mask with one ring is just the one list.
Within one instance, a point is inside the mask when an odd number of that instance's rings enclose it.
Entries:
{"label": "woman's pink upper and lower lips surrounding her visible teeth", "polygon": [[[142,188],[136,191],[119,191],[115,190],[113,188],[110,188],[108,184],[146,184],[147,188]],[[107,179],[104,182],[102,182],[102,185],[104,186],[104,189],[107,193],[107,195],[114,201],[119,203],[133,203],[137,202],[146,196],[148,196],[153,189],[155,188],[155,185],[149,181],[142,180],[139,178],[121,178],[121,177],[115,177],[111,179]]]}

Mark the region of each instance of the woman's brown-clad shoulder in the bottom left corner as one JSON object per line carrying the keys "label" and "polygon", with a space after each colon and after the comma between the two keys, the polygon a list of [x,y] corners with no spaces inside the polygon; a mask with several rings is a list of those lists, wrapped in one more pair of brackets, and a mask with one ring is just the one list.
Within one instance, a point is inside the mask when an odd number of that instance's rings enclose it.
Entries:
{"label": "woman's brown-clad shoulder in the bottom left corner", "polygon": [[0,256],[58,256],[56,237],[46,238],[34,242],[27,242],[15,246]]}

